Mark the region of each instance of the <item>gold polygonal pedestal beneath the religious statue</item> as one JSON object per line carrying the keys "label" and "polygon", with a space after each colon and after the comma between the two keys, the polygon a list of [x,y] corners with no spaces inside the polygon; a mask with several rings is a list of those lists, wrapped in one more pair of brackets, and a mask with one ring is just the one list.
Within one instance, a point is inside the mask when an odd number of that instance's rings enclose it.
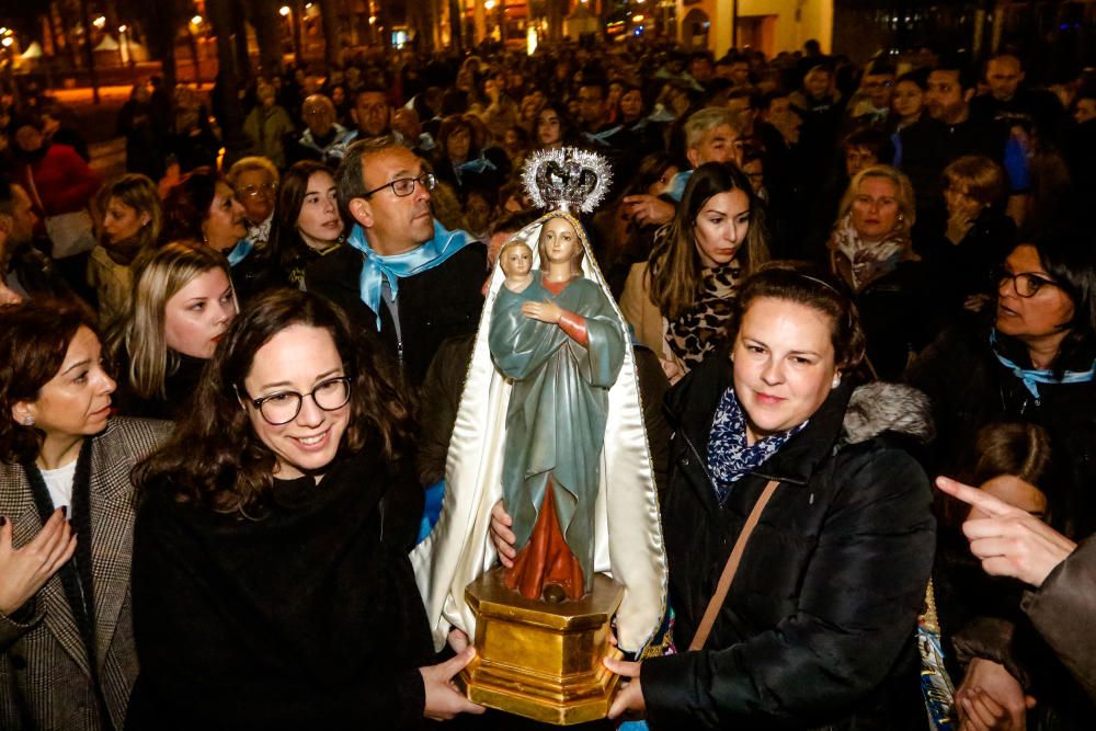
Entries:
{"label": "gold polygonal pedestal beneath the religious statue", "polygon": [[624,586],[604,574],[578,602],[526,599],[494,569],[468,584],[476,613],[476,658],[457,681],[472,703],[537,721],[571,726],[605,718],[620,677],[602,664]]}

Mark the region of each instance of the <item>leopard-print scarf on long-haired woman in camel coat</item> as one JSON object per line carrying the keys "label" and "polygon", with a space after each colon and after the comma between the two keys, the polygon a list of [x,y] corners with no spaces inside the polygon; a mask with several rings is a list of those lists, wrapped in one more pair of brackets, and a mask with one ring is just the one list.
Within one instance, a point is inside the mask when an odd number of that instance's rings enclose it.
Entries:
{"label": "leopard-print scarf on long-haired woman in camel coat", "polygon": [[686,368],[693,368],[722,341],[738,296],[742,265],[738,259],[701,272],[700,294],[693,308],[670,322],[666,342]]}

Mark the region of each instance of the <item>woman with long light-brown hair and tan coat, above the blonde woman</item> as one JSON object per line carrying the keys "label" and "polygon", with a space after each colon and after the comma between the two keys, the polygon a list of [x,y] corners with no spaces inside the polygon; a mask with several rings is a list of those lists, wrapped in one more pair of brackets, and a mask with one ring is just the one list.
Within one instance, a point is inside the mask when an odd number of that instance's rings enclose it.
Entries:
{"label": "woman with long light-brown hair and tan coat, above the blonde woman", "polygon": [[163,212],[156,183],[137,173],[107,182],[99,192],[99,208],[103,225],[88,262],[88,284],[95,289],[99,324],[105,330],[129,308],[134,260],[159,242]]}

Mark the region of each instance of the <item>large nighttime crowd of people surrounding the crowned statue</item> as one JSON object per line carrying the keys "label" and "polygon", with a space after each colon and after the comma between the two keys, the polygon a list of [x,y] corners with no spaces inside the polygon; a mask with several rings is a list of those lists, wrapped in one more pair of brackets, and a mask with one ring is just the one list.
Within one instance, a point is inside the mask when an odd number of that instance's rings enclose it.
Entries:
{"label": "large nighttime crowd of people surrounding the crowned statue", "polygon": [[576,147],[670,569],[610,715],[925,728],[928,589],[961,728],[1085,728],[1096,77],[1024,61],[369,57],[256,78],[228,148],[226,90],[155,79],[110,180],[3,96],[0,727],[511,728],[409,551],[525,162]]}

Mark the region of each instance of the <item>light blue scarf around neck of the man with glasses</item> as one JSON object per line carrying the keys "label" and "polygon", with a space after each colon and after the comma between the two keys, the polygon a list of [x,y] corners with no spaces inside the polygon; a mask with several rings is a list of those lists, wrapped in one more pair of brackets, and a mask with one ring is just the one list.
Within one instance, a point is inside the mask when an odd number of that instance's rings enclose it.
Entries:
{"label": "light blue scarf around neck of the man with glasses", "polygon": [[377,315],[377,332],[380,332],[380,297],[385,281],[388,282],[395,299],[399,293],[401,278],[434,269],[475,241],[467,231],[448,231],[435,219],[434,238],[430,241],[402,254],[381,256],[365,240],[365,229],[355,225],[346,243],[365,254],[358,292],[362,301]]}

